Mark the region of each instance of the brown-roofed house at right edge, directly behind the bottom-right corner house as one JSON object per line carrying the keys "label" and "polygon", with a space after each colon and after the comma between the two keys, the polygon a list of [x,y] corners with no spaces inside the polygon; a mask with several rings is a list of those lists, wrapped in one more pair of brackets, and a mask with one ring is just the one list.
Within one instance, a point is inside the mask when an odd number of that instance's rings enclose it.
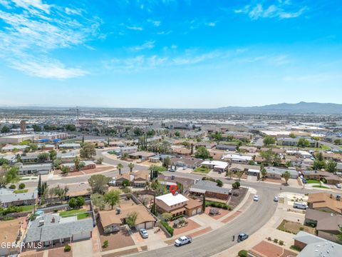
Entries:
{"label": "brown-roofed house at right edge, directly behind the bottom-right corner house", "polygon": [[342,216],[325,211],[307,209],[305,223],[316,226],[317,236],[338,243],[338,234],[342,226]]}

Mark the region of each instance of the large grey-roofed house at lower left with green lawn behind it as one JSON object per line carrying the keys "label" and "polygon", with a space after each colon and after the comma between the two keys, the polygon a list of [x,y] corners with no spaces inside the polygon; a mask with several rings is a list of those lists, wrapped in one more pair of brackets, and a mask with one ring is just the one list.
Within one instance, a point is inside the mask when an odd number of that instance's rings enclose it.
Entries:
{"label": "large grey-roofed house at lower left with green lawn behind it", "polygon": [[62,218],[58,214],[43,214],[28,223],[25,243],[43,243],[55,246],[59,243],[89,239],[93,232],[93,219],[77,220],[77,216]]}

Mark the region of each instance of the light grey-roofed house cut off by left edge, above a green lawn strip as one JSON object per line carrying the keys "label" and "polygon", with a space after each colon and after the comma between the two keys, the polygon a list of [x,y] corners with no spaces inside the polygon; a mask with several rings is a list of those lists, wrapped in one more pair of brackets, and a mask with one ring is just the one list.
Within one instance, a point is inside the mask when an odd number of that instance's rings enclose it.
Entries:
{"label": "light grey-roofed house cut off by left edge, above a green lawn strip", "polygon": [[7,208],[9,206],[33,205],[38,197],[37,189],[25,193],[15,193],[9,188],[0,188],[0,206]]}

